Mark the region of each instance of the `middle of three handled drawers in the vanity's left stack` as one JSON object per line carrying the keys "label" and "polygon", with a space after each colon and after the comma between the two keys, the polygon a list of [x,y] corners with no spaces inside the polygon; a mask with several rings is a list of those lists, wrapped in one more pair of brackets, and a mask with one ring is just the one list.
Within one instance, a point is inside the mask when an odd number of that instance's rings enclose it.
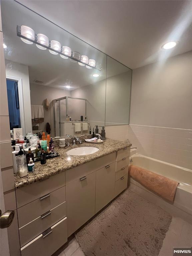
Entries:
{"label": "middle of three handled drawers in the vanity's left stack", "polygon": [[24,246],[49,227],[66,217],[66,202],[39,216],[19,229],[20,244]]}

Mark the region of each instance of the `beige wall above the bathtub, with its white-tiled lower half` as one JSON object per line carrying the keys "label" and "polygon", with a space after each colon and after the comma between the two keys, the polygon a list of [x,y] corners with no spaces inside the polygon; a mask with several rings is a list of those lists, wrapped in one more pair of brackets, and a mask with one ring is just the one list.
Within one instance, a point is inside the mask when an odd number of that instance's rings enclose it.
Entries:
{"label": "beige wall above the bathtub, with its white-tiled lower half", "polygon": [[192,169],[192,52],[133,70],[128,138],[139,154]]}

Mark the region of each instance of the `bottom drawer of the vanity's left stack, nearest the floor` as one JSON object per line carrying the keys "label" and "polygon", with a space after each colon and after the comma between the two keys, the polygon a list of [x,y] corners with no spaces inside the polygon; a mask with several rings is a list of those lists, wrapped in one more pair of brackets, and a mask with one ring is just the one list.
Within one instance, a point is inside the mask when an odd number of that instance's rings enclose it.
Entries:
{"label": "bottom drawer of the vanity's left stack, nearest the floor", "polygon": [[22,256],[51,256],[67,242],[67,217],[21,248]]}

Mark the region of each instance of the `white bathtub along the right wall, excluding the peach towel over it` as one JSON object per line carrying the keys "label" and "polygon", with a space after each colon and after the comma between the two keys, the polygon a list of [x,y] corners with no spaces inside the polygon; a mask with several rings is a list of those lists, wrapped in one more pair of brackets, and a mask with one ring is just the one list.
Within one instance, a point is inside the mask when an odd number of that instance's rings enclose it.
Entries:
{"label": "white bathtub along the right wall, excluding the peach towel over it", "polygon": [[131,154],[130,164],[178,181],[179,185],[173,204],[147,190],[131,177],[129,177],[129,189],[160,206],[171,215],[192,223],[192,170],[139,154]]}

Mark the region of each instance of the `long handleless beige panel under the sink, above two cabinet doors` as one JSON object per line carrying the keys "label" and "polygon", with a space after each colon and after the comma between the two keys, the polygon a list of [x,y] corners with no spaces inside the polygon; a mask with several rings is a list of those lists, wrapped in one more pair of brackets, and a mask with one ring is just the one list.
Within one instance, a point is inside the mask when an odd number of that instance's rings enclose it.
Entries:
{"label": "long handleless beige panel under the sink, above two cabinet doors", "polygon": [[116,161],[116,152],[65,171],[66,185]]}

